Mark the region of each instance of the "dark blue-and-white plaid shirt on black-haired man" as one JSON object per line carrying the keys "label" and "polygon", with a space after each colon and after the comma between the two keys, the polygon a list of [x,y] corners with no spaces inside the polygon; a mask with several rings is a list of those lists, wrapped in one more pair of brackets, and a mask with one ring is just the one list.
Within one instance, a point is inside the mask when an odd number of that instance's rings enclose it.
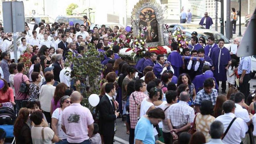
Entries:
{"label": "dark blue-and-white plaid shirt on black-haired man", "polygon": [[202,89],[196,94],[195,105],[201,105],[202,101],[204,100],[210,100],[212,102],[212,105],[215,105],[217,96],[218,91],[215,88],[211,90],[210,94],[207,94],[205,92],[205,89]]}

